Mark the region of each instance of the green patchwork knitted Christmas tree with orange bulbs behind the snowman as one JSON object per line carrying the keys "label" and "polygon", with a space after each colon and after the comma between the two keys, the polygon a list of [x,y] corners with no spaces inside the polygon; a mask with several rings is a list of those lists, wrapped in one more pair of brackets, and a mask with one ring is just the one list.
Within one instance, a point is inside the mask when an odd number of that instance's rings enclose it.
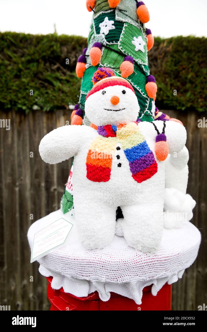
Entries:
{"label": "green patchwork knitted Christmas tree with orange bulbs behind the snowman", "polygon": [[[76,67],[82,85],[71,124],[94,126],[85,116],[84,105],[93,87],[92,77],[102,67],[111,68],[117,76],[126,78],[133,86],[140,106],[137,117],[141,121],[169,119],[155,108],[157,85],[154,76],[150,75],[147,56],[154,38],[151,30],[144,25],[149,21],[145,4],[136,0],[87,0],[86,6],[94,15],[88,47],[79,56]],[[103,75],[102,70],[100,75]],[[73,208],[72,172],[73,169],[61,201],[64,213]]]}

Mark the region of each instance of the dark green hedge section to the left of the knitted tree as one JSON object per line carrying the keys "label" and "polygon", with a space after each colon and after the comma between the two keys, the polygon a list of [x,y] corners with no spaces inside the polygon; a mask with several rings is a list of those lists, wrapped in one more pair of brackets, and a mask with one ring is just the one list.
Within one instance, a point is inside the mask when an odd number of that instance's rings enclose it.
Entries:
{"label": "dark green hedge section to the left of the knitted tree", "polygon": [[77,56],[86,45],[86,38],[76,36],[1,33],[2,106],[27,113],[37,107],[49,111],[77,102],[81,80],[74,71]]}

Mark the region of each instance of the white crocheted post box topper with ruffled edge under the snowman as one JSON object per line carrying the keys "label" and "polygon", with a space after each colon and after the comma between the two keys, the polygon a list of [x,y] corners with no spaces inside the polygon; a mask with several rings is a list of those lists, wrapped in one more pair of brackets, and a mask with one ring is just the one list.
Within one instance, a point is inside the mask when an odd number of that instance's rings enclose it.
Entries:
{"label": "white crocheted post box topper with ruffled edge under the snowman", "polygon": [[172,284],[196,259],[200,232],[190,222],[179,229],[164,229],[161,246],[156,254],[144,254],[127,246],[123,237],[114,236],[109,246],[87,250],[81,244],[76,221],[61,210],[34,222],[28,231],[30,247],[34,234],[51,222],[64,217],[74,226],[67,243],[38,260],[39,271],[53,277],[52,288],[75,296],[88,296],[97,290],[103,301],[110,292],[134,299],[141,304],[142,290],[152,286],[156,295],[165,283]]}

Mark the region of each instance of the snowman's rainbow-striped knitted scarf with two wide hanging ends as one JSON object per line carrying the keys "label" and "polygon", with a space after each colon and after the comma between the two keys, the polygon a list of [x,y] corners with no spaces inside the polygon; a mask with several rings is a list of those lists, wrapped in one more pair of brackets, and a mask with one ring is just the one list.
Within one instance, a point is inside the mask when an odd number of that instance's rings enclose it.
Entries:
{"label": "snowman's rainbow-striped knitted scarf with two wide hanging ends", "polygon": [[137,122],[98,127],[99,136],[94,139],[86,160],[87,178],[94,182],[110,179],[112,157],[121,144],[129,162],[132,177],[138,183],[151,178],[157,172],[157,162],[138,128]]}

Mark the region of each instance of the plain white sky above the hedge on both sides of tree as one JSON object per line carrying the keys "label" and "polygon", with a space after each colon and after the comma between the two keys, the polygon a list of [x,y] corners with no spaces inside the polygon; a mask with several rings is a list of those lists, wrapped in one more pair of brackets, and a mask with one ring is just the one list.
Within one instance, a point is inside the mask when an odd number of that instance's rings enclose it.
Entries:
{"label": "plain white sky above the hedge on both sides of tree", "polygon": [[[154,36],[207,37],[207,0],[144,0]],[[0,31],[88,37],[86,0],[0,0]]]}

